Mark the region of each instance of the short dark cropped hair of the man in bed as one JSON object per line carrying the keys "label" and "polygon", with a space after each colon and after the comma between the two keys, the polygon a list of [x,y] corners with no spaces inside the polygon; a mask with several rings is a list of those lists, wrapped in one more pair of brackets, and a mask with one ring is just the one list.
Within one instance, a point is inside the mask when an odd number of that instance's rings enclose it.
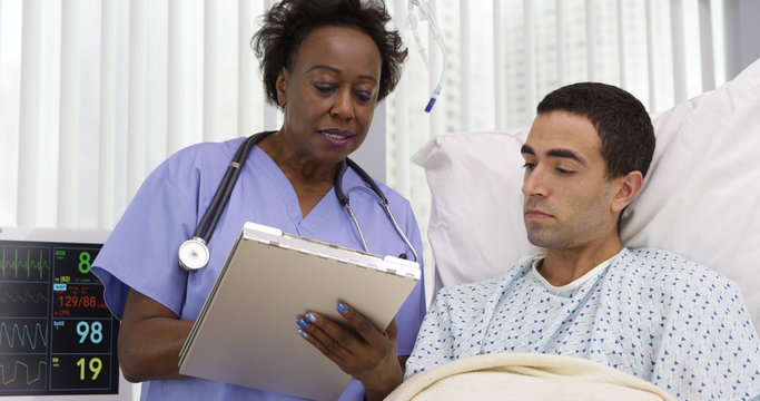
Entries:
{"label": "short dark cropped hair of the man in bed", "polygon": [[602,143],[608,178],[635,170],[647,175],[654,154],[654,128],[644,105],[633,95],[606,84],[573,84],[546,95],[536,108],[539,114],[555,110],[591,120]]}

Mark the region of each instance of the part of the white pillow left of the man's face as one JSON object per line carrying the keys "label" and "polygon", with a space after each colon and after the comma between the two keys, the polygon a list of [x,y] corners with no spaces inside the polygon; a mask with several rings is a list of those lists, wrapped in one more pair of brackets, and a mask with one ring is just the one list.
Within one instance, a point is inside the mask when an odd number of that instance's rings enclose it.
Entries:
{"label": "part of the white pillow left of the man's face", "polygon": [[414,155],[432,193],[427,237],[435,291],[494,277],[535,253],[523,224],[523,158],[527,129],[437,136]]}

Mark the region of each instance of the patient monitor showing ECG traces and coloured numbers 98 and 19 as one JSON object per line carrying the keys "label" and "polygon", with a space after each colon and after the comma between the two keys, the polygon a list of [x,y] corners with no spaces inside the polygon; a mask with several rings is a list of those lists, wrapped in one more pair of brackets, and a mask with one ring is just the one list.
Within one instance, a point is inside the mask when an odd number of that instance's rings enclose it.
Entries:
{"label": "patient monitor showing ECG traces and coloured numbers 98 and 19", "polygon": [[0,395],[119,393],[119,321],[90,273],[107,234],[0,232]]}

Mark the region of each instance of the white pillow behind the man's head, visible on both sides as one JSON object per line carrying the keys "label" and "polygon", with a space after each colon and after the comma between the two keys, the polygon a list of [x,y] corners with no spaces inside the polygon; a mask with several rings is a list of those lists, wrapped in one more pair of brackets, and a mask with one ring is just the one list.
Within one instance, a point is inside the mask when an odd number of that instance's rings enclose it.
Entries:
{"label": "white pillow behind the man's head, visible on both sides", "polygon": [[[760,60],[652,118],[654,158],[623,216],[623,243],[672,251],[733,280],[760,327]],[[537,251],[522,218],[526,134],[440,136],[414,155],[433,194],[436,290],[500,275]]]}

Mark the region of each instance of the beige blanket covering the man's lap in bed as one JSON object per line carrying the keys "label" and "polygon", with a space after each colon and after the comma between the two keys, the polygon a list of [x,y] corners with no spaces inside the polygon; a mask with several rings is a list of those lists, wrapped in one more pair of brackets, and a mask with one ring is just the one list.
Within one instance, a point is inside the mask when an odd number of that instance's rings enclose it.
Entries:
{"label": "beige blanket covering the man's lap in bed", "polygon": [[579,358],[501,353],[461,359],[417,373],[386,401],[675,400],[657,385]]}

